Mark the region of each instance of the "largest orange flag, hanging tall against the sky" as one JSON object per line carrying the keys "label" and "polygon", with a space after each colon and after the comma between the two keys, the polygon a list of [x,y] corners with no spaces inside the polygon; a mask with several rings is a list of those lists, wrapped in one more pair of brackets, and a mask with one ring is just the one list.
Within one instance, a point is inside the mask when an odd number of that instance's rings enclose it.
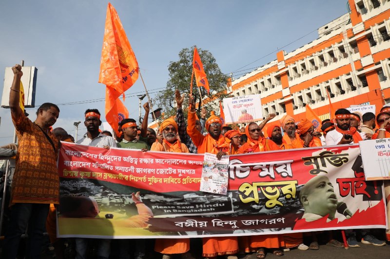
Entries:
{"label": "largest orange flag, hanging tall against the sky", "polygon": [[106,120],[118,134],[117,99],[138,79],[138,62],[117,11],[108,3],[99,83],[106,85]]}

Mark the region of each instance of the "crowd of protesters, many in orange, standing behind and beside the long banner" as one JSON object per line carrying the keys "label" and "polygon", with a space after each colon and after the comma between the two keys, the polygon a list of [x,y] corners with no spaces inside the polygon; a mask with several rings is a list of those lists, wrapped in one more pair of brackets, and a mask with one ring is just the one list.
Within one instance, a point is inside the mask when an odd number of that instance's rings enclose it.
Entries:
{"label": "crowd of protesters, many in orange, standing behind and beside the long banner", "polygon": [[[7,229],[2,244],[1,258],[15,259],[17,257],[20,236],[26,230],[28,234],[26,258],[39,258],[43,233],[46,231],[55,248],[56,257],[64,258],[65,242],[56,237],[55,210],[60,201],[56,161],[60,141],[74,142],[74,139],[62,128],[50,130],[59,117],[59,108],[55,104],[42,104],[38,108],[37,119],[34,122],[24,115],[19,107],[21,67],[17,65],[13,67],[13,71],[10,108],[19,143],[17,148],[16,146],[11,148],[17,149],[18,153],[16,170],[12,179],[11,211],[7,212]],[[322,121],[321,126],[316,129],[311,121],[302,119],[298,122],[290,115],[283,116],[278,121],[279,123],[273,122],[267,125],[275,114],[270,114],[259,124],[250,122],[246,127],[233,129],[223,126],[222,120],[214,114],[206,119],[207,112],[204,108],[201,110],[199,119],[195,110],[195,102],[191,97],[186,125],[182,107],[184,95],[180,95],[176,90],[175,99],[177,107],[175,119],[169,118],[162,121],[157,133],[147,128],[150,111],[148,103],[143,105],[145,115],[141,127],[138,128],[133,119],[124,119],[118,125],[120,136],[114,137],[110,132],[99,131],[100,113],[97,109],[88,109],[84,113],[87,133],[77,143],[106,149],[110,147],[137,149],[143,152],[150,150],[195,154],[212,153],[220,159],[223,155],[333,146],[358,143],[365,139],[390,138],[390,107],[383,107],[376,116],[368,112],[362,118],[347,109],[338,109],[334,114],[334,120]],[[264,132],[265,126],[267,127]],[[27,166],[27,161],[30,161],[29,166]],[[33,167],[31,161],[33,161]],[[43,182],[40,185],[37,181]],[[390,195],[388,182],[385,181],[387,198]],[[8,183],[11,182],[7,181]],[[139,193],[133,193],[132,199],[139,215],[146,218],[153,216],[150,209],[147,209],[141,202]],[[326,231],[326,244],[344,248],[344,243],[337,240],[339,235],[337,231],[335,232],[333,236],[333,231]],[[318,235],[319,233],[315,232],[305,234],[305,241],[310,240],[309,245],[304,244],[303,233],[207,237],[202,239],[202,256],[207,259],[215,259],[218,256],[237,259],[237,253],[255,252],[258,259],[264,259],[267,253],[283,256],[292,248],[318,250]],[[357,236],[361,237],[360,242],[357,241]],[[359,247],[361,243],[386,245],[386,242],[375,237],[370,229],[347,231],[347,237],[350,247]],[[390,241],[389,232],[386,233],[386,239]],[[90,241],[85,238],[73,240],[76,259],[87,258]],[[115,245],[115,242],[119,247],[116,251],[118,258],[146,258],[145,239],[136,239],[131,242],[130,240],[95,240],[96,256],[99,259],[108,259],[113,252],[111,247]],[[134,249],[130,251],[129,247]],[[190,252],[190,239],[156,239],[154,250],[161,254],[162,259],[193,258]],[[130,255],[130,253],[134,254]]]}

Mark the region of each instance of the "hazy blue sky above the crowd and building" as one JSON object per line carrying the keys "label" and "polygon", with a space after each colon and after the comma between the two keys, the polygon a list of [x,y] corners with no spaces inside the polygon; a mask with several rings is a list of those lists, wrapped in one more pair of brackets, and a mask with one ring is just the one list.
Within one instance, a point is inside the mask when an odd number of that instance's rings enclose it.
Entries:
{"label": "hazy blue sky above the crowd and building", "polygon": [[[196,45],[212,52],[222,72],[227,74],[249,69],[236,72],[234,77],[238,78],[239,74],[275,59],[276,54],[255,60],[347,13],[347,0],[114,0],[111,3],[117,9],[152,98],[166,86],[169,62],[177,60],[183,48]],[[86,109],[97,108],[104,114],[105,86],[98,83],[98,73],[107,4],[102,0],[0,2],[1,81],[5,67],[12,67],[20,60],[24,60],[25,66],[37,67],[36,105],[60,104],[59,120],[54,127],[63,127],[72,135],[73,122],[83,121]],[[316,31],[283,50],[291,52],[315,38],[318,38]],[[2,90],[2,84],[0,87]],[[136,96],[143,92],[138,80],[126,94]],[[63,105],[87,100],[94,101]],[[137,119],[137,97],[126,98],[125,105],[129,117]],[[27,109],[32,121],[36,119],[37,108]],[[12,141],[14,128],[9,109],[0,108],[0,117],[2,145]],[[78,135],[83,133],[85,127],[81,123]]]}

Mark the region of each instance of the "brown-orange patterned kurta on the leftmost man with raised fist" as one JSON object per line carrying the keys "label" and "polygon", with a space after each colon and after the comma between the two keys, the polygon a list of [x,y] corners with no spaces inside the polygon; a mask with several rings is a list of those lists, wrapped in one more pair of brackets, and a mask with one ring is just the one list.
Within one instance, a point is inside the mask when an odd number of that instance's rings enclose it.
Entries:
{"label": "brown-orange patterned kurta on the leftmost man with raised fist", "polygon": [[14,118],[19,148],[12,181],[11,202],[59,204],[59,174],[57,157],[59,140],[50,131],[48,138],[39,125],[30,121],[23,112]]}

